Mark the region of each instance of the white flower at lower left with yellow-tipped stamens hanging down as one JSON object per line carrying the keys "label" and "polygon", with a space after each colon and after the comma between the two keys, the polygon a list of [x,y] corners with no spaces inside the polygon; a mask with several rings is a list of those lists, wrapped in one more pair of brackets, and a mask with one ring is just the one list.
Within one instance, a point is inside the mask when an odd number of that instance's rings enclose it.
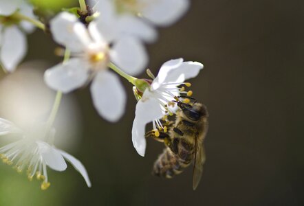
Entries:
{"label": "white flower at lower left with yellow-tipped stamens hanging down", "polygon": [[17,128],[17,126],[14,126],[12,122],[0,118],[0,135],[11,133],[17,133],[21,139],[0,148],[0,157],[3,163],[14,165],[13,168],[18,172],[27,170],[26,172],[30,181],[36,175],[36,179],[42,181],[41,190],[46,190],[47,187],[50,187],[47,166],[52,170],[64,171],[67,168],[65,159],[80,172],[87,186],[91,187],[87,170],[85,170],[83,164],[72,155],[52,145],[55,135],[54,129],[46,134],[45,126],[39,126],[38,128],[24,132]]}

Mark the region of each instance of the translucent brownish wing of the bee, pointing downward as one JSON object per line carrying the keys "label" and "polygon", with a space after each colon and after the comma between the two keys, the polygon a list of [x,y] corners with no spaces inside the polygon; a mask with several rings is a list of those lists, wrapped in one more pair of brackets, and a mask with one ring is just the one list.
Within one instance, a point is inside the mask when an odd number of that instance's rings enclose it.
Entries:
{"label": "translucent brownish wing of the bee, pointing downward", "polygon": [[206,161],[206,154],[204,144],[199,146],[197,141],[195,141],[195,158],[194,158],[194,166],[193,166],[193,190],[196,189],[197,185],[199,185],[199,181],[201,181],[203,174],[203,165]]}

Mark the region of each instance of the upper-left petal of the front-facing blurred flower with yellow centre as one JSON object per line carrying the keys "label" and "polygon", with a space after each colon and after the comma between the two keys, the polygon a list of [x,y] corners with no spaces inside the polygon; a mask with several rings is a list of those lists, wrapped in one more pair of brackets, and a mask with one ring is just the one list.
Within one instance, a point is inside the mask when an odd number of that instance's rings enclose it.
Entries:
{"label": "upper-left petal of the front-facing blurred flower with yellow centre", "polygon": [[75,15],[61,12],[50,21],[54,40],[72,52],[80,52],[91,43],[87,28]]}

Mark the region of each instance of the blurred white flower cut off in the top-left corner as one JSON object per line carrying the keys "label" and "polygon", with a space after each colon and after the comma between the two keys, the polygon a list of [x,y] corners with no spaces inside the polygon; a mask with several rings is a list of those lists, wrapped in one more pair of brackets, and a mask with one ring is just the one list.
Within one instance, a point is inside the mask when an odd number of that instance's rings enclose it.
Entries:
{"label": "blurred white flower cut off in the top-left corner", "polygon": [[31,5],[21,0],[0,1],[0,63],[12,72],[28,51],[26,34],[34,31],[27,21],[14,18],[14,12],[35,19]]}

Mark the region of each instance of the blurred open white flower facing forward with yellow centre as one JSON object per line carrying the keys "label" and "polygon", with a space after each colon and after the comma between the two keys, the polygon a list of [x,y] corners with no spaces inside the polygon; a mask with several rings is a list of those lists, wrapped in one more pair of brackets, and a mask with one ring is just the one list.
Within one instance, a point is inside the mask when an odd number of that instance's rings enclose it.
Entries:
{"label": "blurred open white flower facing forward with yellow centre", "polygon": [[94,106],[105,119],[117,121],[124,113],[126,95],[118,76],[107,69],[108,64],[113,62],[129,74],[140,73],[147,62],[144,47],[131,37],[120,38],[110,46],[94,22],[87,29],[67,12],[58,14],[50,25],[55,41],[69,49],[72,58],[45,72],[47,85],[68,93],[93,79]]}

